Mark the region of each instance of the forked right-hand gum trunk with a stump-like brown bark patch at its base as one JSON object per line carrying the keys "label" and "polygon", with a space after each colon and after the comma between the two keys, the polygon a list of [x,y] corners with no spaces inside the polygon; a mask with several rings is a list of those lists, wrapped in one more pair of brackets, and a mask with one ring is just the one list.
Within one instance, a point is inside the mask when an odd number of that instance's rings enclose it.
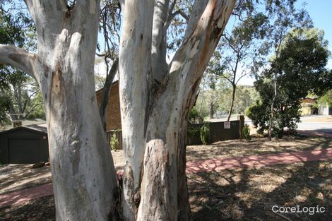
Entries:
{"label": "forked right-hand gum trunk with a stump-like brown bark patch at its base", "polygon": [[168,1],[156,1],[155,7],[151,1],[124,4],[119,72],[127,220],[191,220],[186,117],[234,4],[196,1],[182,46],[166,72],[158,62],[164,30],[152,28],[165,27],[160,20],[167,23]]}

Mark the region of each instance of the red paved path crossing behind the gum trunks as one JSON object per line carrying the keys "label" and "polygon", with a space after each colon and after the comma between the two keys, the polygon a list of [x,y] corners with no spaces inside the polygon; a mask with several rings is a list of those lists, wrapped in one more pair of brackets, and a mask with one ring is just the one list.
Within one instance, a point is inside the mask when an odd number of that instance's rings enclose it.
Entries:
{"label": "red paved path crossing behind the gum trunks", "polygon": [[[268,165],[290,164],[313,160],[332,159],[332,148],[309,150],[303,152],[277,153],[268,155],[252,155],[244,157],[227,157],[223,159],[198,160],[186,162],[186,173],[220,172],[223,169],[236,167],[263,167]],[[0,195],[0,208],[6,205],[24,203],[34,198],[53,194],[52,184],[45,184],[22,191]]]}

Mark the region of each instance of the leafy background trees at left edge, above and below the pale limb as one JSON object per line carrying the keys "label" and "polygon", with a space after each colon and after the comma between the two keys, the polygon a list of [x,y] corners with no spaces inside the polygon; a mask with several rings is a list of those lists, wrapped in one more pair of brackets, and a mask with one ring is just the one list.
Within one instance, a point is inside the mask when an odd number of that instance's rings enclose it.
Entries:
{"label": "leafy background trees at left edge, above and below the pale limb", "polygon": [[[6,4],[6,10],[4,6]],[[28,50],[35,50],[35,27],[27,11],[18,11],[19,2],[7,1],[0,4],[0,44],[15,44]],[[32,102],[39,92],[36,82],[23,71],[9,66],[0,66],[1,118],[11,121],[23,120],[42,102]],[[3,121],[4,122],[4,121]]]}

